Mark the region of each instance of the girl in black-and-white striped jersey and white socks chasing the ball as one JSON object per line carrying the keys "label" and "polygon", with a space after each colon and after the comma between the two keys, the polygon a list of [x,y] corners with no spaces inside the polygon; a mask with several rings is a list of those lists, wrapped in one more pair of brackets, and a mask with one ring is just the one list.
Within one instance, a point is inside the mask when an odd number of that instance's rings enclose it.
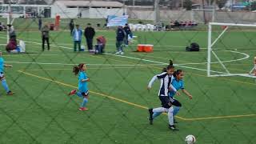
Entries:
{"label": "girl in black-and-white striped jersey and white socks chasing the ball", "polygon": [[160,90],[158,91],[158,96],[159,96],[159,99],[160,99],[161,104],[162,104],[161,107],[154,108],[154,109],[149,109],[149,113],[150,113],[149,120],[150,120],[150,125],[152,125],[155,114],[158,114],[158,113],[161,114],[163,112],[168,113],[168,120],[169,120],[170,130],[178,130],[174,126],[174,114],[173,114],[174,108],[173,108],[173,106],[171,106],[170,98],[168,96],[169,89],[172,89],[172,90],[176,91],[174,89],[174,87],[171,86],[171,84],[170,84],[172,82],[172,80],[174,79],[173,74],[174,74],[174,66],[173,66],[173,62],[170,61],[170,65],[167,66],[163,70],[162,74],[155,75],[151,79],[150,83],[148,84],[147,89],[150,90],[154,81],[157,80],[157,79],[160,80],[161,85],[160,85]]}

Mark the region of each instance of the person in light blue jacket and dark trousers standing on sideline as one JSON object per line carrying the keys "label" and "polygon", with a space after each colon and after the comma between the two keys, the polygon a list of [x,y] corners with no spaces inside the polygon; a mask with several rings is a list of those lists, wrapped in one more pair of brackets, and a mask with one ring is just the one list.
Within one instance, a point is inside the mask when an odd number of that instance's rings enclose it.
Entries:
{"label": "person in light blue jacket and dark trousers standing on sideline", "polygon": [[78,50],[81,50],[81,41],[82,41],[82,30],[80,29],[79,25],[76,25],[74,30],[72,31],[72,36],[74,40],[74,52],[77,51],[77,45]]}

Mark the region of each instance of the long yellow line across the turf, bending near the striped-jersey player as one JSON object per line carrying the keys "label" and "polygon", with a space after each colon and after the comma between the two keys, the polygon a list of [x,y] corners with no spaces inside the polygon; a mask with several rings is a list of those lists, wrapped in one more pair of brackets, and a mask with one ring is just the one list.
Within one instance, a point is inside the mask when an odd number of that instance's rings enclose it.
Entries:
{"label": "long yellow line across the turf, bending near the striped-jersey player", "polygon": [[[72,88],[77,88],[77,86],[72,86],[72,85],[66,84],[64,82],[54,81],[54,80],[52,80],[50,78],[44,78],[44,77],[38,76],[36,74],[26,73],[26,72],[24,72],[22,70],[18,70],[18,72],[20,72],[22,74],[26,74],[26,75],[32,76],[32,77],[35,77],[35,78],[44,79],[46,81],[55,82],[55,83],[58,83],[58,84],[60,84],[62,86],[68,86],[68,87],[72,87]],[[110,98],[110,99],[113,99],[113,100],[118,101],[118,102],[126,103],[126,104],[128,104],[130,106],[135,106],[135,107],[142,108],[142,109],[145,109],[145,110],[148,109],[148,107],[146,107],[146,106],[135,104],[133,102],[127,102],[126,100],[122,100],[122,99],[119,99],[119,98],[114,98],[113,96],[110,96],[110,95],[107,95],[107,94],[102,94],[102,93],[98,93],[98,92],[94,92],[94,91],[90,91],[90,93],[97,94],[97,95],[100,95],[102,97]],[[227,115],[227,116],[203,117],[203,118],[182,118],[182,117],[179,117],[179,116],[175,116],[175,117],[178,118],[178,119],[181,119],[183,121],[198,121],[198,120],[219,119],[219,118],[243,118],[243,117],[254,117],[254,116],[256,116],[256,114]]]}

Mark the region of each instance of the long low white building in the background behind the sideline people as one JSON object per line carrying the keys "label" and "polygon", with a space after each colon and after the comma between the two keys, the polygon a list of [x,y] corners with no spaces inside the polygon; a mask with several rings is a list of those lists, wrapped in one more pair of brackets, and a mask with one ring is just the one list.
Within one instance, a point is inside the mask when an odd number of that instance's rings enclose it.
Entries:
{"label": "long low white building in the background behind the sideline people", "polygon": [[56,1],[51,5],[51,17],[61,18],[106,18],[107,15],[126,13],[121,2],[106,1]]}

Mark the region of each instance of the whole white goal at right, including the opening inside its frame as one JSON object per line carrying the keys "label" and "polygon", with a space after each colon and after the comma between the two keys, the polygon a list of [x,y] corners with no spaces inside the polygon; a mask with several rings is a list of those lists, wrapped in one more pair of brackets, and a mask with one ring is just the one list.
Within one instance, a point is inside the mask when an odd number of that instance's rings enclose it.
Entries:
{"label": "whole white goal at right, including the opening inside its frame", "polygon": [[210,22],[207,76],[256,78],[256,24]]}

